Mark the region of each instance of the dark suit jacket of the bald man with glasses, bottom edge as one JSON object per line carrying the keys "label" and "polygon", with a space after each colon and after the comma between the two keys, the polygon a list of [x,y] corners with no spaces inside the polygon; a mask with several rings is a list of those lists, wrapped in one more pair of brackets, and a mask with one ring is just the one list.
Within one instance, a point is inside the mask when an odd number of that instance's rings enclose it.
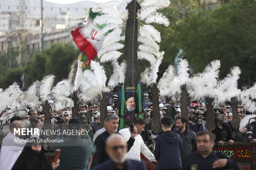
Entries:
{"label": "dark suit jacket of the bald man with glasses, bottom edge", "polygon": [[[115,164],[109,160],[98,166],[92,167],[92,170],[116,170]],[[126,160],[125,170],[147,170],[144,163],[131,159]]]}

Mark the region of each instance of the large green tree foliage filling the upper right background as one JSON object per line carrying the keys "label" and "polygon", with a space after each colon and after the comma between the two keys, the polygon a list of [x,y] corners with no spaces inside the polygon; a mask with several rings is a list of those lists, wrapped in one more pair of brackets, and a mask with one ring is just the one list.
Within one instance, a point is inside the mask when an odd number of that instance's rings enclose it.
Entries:
{"label": "large green tree foliage filling the upper right background", "polygon": [[256,82],[256,76],[252,74],[256,71],[254,2],[242,5],[230,3],[213,10],[197,10],[186,18],[171,16],[173,10],[164,10],[171,22],[168,28],[156,26],[161,31],[161,50],[165,51],[159,75],[169,64],[173,64],[178,49],[183,49],[194,73],[201,72],[207,64],[218,59],[221,62],[220,78],[237,65],[242,70],[240,86],[247,86],[249,74],[251,82]]}

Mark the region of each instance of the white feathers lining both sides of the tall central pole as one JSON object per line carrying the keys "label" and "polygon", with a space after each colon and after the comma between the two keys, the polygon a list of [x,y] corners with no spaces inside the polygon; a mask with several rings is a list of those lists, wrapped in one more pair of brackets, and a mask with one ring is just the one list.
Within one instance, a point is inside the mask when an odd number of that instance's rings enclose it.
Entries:
{"label": "white feathers lining both sides of the tall central pole", "polygon": [[[159,23],[164,26],[169,25],[169,20],[157,10],[164,9],[170,5],[169,0],[137,0],[140,3],[141,9],[138,11],[137,16],[139,21],[145,23]],[[107,24],[98,34],[101,37],[109,30],[111,33],[104,37],[102,49],[98,52],[97,56],[100,62],[116,61],[122,53],[116,50],[123,49],[123,44],[118,43],[124,41],[125,37],[121,37],[122,28],[126,26],[126,19],[124,19],[117,9],[117,7],[125,7],[120,1],[110,1],[99,3],[92,8],[92,12],[98,12],[101,16],[95,17],[94,24]],[[160,32],[151,25],[143,25],[139,22],[138,42],[139,51],[137,53],[138,59],[147,60],[151,64],[156,62],[156,59],[161,58],[159,45],[156,42],[161,42]]]}

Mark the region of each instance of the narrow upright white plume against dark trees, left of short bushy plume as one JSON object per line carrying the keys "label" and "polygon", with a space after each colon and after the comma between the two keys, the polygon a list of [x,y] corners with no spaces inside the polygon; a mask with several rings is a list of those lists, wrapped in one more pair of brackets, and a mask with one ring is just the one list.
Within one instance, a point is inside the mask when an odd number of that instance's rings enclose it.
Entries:
{"label": "narrow upright white plume against dark trees, left of short bushy plume", "polygon": [[40,85],[40,100],[45,103],[46,100],[49,100],[49,94],[51,93],[52,84],[54,82],[55,76],[54,75],[47,75],[45,76]]}

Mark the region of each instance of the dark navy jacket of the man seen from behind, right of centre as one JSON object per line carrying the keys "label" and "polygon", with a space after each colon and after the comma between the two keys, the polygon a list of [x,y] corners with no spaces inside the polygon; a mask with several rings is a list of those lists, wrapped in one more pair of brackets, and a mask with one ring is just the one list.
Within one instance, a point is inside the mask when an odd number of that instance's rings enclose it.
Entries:
{"label": "dark navy jacket of the man seen from behind, right of centre", "polygon": [[168,130],[156,137],[154,156],[158,165],[156,170],[181,169],[180,151],[182,142],[180,135]]}

